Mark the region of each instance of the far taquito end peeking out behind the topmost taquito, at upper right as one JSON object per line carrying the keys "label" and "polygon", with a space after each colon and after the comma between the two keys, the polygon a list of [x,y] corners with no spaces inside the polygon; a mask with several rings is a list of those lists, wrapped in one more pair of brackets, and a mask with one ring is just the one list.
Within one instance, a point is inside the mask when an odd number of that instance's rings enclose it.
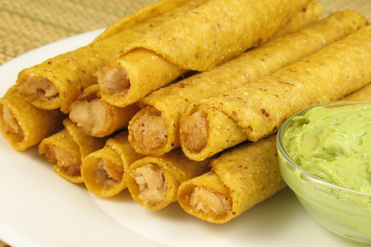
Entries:
{"label": "far taquito end peeking out behind the topmost taquito, at upper right", "polygon": [[322,5],[316,0],[309,1],[292,19],[288,20],[286,25],[276,31],[268,41],[275,40],[286,34],[292,33],[293,30],[299,30],[322,16]]}

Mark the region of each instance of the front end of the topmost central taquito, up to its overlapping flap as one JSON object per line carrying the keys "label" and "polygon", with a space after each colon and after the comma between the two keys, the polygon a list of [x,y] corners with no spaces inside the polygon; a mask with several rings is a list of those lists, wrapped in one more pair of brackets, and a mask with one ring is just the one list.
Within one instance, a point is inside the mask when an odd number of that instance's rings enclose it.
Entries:
{"label": "front end of the topmost central taquito, up to its overlapping flap", "polygon": [[102,98],[112,105],[124,107],[184,72],[186,70],[171,64],[156,52],[136,48],[106,65],[97,75]]}

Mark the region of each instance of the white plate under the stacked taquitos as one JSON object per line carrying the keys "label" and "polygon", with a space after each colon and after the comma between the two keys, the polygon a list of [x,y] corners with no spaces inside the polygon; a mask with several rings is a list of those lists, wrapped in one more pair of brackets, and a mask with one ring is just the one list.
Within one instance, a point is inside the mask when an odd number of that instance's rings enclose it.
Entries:
{"label": "white plate under the stacked taquitos", "polygon": [[[85,45],[100,31],[45,45],[2,65],[0,94],[23,68]],[[177,203],[155,212],[144,209],[127,191],[98,198],[57,176],[36,147],[16,152],[2,136],[0,145],[0,239],[13,247],[357,246],[319,226],[289,188],[217,225],[188,215]]]}

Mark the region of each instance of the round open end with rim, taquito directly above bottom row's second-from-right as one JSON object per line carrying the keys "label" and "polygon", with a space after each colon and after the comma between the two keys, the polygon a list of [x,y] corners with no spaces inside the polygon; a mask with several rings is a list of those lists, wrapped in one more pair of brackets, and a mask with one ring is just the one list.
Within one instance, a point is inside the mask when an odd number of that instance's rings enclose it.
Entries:
{"label": "round open end with rim, taquito directly above bottom row's second-from-right", "polygon": [[138,153],[156,156],[165,153],[162,150],[168,145],[169,131],[161,111],[147,106],[134,115],[128,129],[129,142]]}

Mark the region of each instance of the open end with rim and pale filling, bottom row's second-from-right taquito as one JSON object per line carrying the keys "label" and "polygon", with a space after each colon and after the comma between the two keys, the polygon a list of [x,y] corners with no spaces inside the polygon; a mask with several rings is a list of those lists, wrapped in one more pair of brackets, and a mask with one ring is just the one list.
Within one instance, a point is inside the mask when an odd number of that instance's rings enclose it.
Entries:
{"label": "open end with rim and pale filling, bottom row's second-from-right taquito", "polygon": [[179,187],[177,179],[162,166],[141,160],[130,166],[125,180],[132,198],[151,210],[161,209],[173,202]]}

